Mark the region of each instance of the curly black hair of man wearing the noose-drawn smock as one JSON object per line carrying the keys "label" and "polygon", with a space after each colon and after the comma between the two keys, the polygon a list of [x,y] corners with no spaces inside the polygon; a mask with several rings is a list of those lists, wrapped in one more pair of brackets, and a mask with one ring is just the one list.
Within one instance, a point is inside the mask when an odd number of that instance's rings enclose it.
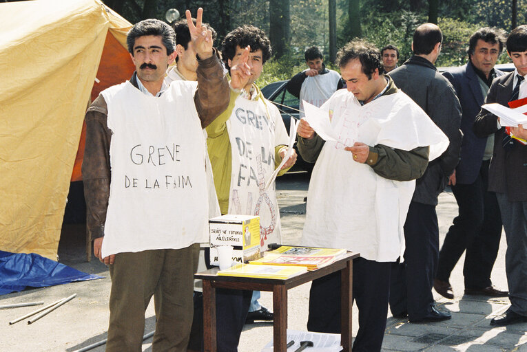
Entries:
{"label": "curly black hair of man wearing the noose-drawn smock", "polygon": [[251,52],[256,52],[258,49],[262,50],[262,64],[265,64],[271,58],[271,41],[269,41],[265,32],[260,30],[260,28],[254,27],[254,25],[242,25],[231,31],[223,39],[223,62],[229,72],[231,70],[229,60],[232,60],[234,55],[236,55],[236,48],[245,48],[247,45],[251,47]]}

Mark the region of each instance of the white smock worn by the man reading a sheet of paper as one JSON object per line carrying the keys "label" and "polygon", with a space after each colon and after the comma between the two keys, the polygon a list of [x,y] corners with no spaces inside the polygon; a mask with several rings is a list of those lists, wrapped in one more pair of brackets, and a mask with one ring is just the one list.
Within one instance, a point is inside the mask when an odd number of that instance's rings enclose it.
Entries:
{"label": "white smock worn by the man reading a sheet of paper", "polygon": [[403,225],[415,181],[392,181],[353,161],[345,146],[362,142],[410,151],[430,146],[429,159],[448,138],[406,94],[380,96],[364,106],[340,89],[322,106],[339,142],[326,142],[307,193],[302,244],[346,248],[371,261],[396,261],[404,252]]}

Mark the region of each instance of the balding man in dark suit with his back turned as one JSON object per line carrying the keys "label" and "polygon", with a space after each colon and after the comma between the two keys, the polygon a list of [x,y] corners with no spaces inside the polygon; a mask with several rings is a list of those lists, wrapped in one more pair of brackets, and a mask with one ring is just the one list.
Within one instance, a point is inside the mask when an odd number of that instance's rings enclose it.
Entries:
{"label": "balding man in dark suit with his back turned", "polygon": [[428,163],[417,179],[404,223],[406,250],[404,263],[393,266],[390,309],[395,317],[408,314],[410,322],[440,321],[451,318],[449,311],[435,307],[433,278],[439,257],[437,196],[448,183],[459,162],[462,134],[461,107],[455,91],[434,66],[441,52],[443,35],[437,25],[425,23],[413,34],[413,56],[390,76],[395,85],[415,101],[448,137],[450,144],[437,159]]}

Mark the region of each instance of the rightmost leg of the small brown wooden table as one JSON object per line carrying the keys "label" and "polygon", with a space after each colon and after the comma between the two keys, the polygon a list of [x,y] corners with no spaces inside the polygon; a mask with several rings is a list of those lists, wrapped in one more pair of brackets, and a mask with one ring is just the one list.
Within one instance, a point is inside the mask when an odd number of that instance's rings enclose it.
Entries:
{"label": "rightmost leg of the small brown wooden table", "polygon": [[340,343],[342,351],[351,352],[351,323],[353,308],[353,261],[340,271]]}

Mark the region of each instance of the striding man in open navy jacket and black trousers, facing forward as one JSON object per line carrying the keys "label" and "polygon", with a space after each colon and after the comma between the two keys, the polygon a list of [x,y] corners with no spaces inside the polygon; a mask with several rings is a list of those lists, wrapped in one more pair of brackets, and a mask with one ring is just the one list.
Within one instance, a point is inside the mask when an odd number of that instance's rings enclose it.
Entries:
{"label": "striding man in open navy jacket and black trousers, facing forward", "polygon": [[468,63],[443,74],[454,86],[463,112],[461,159],[449,182],[459,215],[446,233],[433,283],[437,293],[450,299],[454,295],[448,278],[464,250],[465,294],[494,297],[508,294],[493,287],[490,281],[502,236],[496,195],[487,190],[494,135],[479,138],[473,132],[475,117],[490,84],[494,78],[504,75],[494,69],[505,44],[502,32],[497,28],[477,30],[468,42]]}

